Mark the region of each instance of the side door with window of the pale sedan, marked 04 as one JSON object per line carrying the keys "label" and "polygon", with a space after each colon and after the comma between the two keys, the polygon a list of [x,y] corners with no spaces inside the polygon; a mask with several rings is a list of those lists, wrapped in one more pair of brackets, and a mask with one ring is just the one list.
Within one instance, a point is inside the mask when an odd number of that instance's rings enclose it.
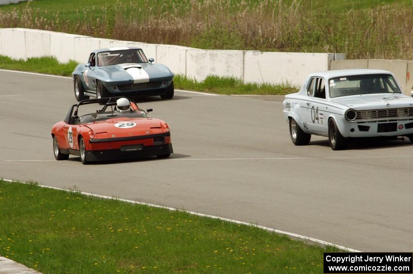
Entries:
{"label": "side door with window of the pale sedan, marked 04", "polygon": [[326,81],[321,77],[313,78],[313,86],[309,90],[308,108],[309,120],[308,128],[311,131],[327,133],[327,99],[326,99]]}

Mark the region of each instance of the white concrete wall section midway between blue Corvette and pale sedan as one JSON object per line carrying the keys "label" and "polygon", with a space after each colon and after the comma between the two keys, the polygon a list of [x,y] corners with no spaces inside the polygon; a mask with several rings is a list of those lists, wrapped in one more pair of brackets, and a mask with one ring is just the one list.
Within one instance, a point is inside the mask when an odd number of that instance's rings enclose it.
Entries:
{"label": "white concrete wall section midway between blue Corvette and pale sedan", "polygon": [[187,77],[204,81],[208,75],[243,78],[242,50],[187,50]]}

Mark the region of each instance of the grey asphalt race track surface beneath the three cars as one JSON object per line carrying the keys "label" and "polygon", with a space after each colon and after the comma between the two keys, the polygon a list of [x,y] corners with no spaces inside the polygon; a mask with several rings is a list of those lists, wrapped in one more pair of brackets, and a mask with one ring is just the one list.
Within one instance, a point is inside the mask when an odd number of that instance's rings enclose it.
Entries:
{"label": "grey asphalt race track surface beneath the three cars", "polygon": [[294,146],[280,97],[175,92],[139,102],[171,127],[174,154],[82,165],[55,161],[52,125],[73,82],[0,71],[0,177],[191,210],[361,251],[413,250],[413,145]]}

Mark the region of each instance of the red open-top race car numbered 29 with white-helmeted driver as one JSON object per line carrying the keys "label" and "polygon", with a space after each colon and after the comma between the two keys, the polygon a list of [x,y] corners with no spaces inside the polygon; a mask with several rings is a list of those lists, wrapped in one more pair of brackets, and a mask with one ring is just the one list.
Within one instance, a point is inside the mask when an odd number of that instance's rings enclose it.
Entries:
{"label": "red open-top race car numbered 29 with white-helmeted driver", "polygon": [[[93,109],[96,106],[98,110]],[[126,97],[82,100],[52,128],[54,157],[60,161],[76,155],[83,164],[149,156],[167,158],[173,153],[169,126],[149,117],[150,111],[139,109]]]}

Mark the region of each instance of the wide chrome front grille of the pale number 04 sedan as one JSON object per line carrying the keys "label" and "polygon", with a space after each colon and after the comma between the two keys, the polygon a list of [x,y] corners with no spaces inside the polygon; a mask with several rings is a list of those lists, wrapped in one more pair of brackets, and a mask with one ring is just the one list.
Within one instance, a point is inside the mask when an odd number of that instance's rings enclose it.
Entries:
{"label": "wide chrome front grille of the pale number 04 sedan", "polygon": [[413,108],[356,111],[356,119],[354,121],[393,118],[413,118]]}

